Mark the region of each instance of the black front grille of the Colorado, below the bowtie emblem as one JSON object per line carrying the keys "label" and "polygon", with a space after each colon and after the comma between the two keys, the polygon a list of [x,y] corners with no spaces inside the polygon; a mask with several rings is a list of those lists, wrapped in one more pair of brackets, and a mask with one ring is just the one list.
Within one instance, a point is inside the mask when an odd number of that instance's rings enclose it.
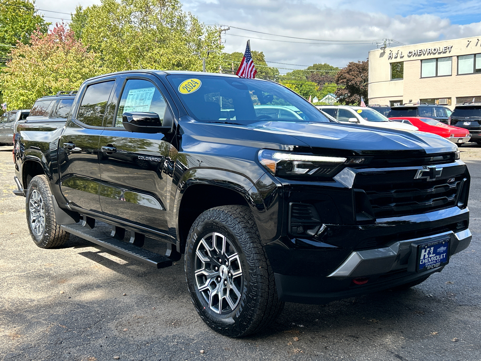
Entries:
{"label": "black front grille of the Colorado, below the bowtie emblem", "polygon": [[[432,212],[456,205],[463,176],[437,181],[356,186],[366,192],[376,218]],[[449,182],[448,182],[449,181]]]}

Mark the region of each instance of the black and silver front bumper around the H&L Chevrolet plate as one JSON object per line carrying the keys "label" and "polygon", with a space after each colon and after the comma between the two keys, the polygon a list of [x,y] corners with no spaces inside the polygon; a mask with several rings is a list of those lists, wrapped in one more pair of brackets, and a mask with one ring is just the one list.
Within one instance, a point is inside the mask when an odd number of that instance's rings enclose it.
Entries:
{"label": "black and silver front bumper around the H&L Chevrolet plate", "polygon": [[[326,304],[340,298],[389,289],[422,279],[442,271],[444,265],[428,271],[416,271],[419,243],[450,238],[449,258],[468,247],[471,232],[443,229],[457,224],[468,226],[467,208],[451,207],[430,213],[378,219],[375,225],[334,226],[328,225],[323,242],[293,239],[267,244],[266,253],[274,269],[278,296],[282,301]],[[440,229],[438,232],[430,232]],[[443,229],[443,230],[442,230]],[[408,233],[404,233],[408,231]],[[403,239],[403,234],[422,234]],[[364,239],[365,237],[391,238],[382,247],[348,250],[339,246],[340,240]],[[400,239],[401,238],[401,239]],[[351,248],[352,249],[352,248]],[[414,252],[413,252],[414,250]],[[449,261],[448,258],[448,261]],[[354,284],[353,279],[368,278],[367,284]]]}

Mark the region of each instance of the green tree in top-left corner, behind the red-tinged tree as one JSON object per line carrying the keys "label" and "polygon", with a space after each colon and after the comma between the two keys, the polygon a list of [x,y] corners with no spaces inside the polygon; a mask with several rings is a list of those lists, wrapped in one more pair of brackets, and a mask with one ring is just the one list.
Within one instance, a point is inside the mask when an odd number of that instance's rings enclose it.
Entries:
{"label": "green tree in top-left corner, behind the red-tinged tree", "polygon": [[[0,44],[16,46],[30,42],[35,30],[46,32],[50,23],[46,23],[35,10],[35,1],[2,0],[0,2]],[[10,49],[1,47],[3,54]]]}

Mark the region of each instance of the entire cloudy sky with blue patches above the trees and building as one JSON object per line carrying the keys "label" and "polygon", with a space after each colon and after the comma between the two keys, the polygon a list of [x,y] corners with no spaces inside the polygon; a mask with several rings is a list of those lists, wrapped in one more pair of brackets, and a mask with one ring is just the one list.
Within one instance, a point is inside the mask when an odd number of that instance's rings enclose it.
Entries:
{"label": "entire cloudy sky with blue patches above the trees and building", "polygon": [[[47,21],[55,22],[59,18],[70,19],[69,15],[55,12],[75,12],[76,5],[93,3],[100,0],[37,0],[36,7],[44,10],[40,13]],[[253,50],[264,52],[267,61],[277,63],[344,66],[350,61],[365,60],[367,52],[376,49],[381,39],[415,44],[481,36],[479,0],[183,0],[182,3],[185,11],[205,24],[231,26],[223,37],[226,52],[243,52],[245,41],[251,39]],[[337,42],[332,44],[332,40]]]}

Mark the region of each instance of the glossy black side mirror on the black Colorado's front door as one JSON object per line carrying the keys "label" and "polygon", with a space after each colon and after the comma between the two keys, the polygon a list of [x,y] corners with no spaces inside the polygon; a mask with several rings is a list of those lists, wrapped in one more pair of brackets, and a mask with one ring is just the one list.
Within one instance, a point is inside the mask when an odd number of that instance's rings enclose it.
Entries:
{"label": "glossy black side mirror on the black Colorado's front door", "polygon": [[174,115],[165,107],[164,119],[152,112],[128,112],[122,114],[124,128],[137,133],[170,133],[174,125]]}

